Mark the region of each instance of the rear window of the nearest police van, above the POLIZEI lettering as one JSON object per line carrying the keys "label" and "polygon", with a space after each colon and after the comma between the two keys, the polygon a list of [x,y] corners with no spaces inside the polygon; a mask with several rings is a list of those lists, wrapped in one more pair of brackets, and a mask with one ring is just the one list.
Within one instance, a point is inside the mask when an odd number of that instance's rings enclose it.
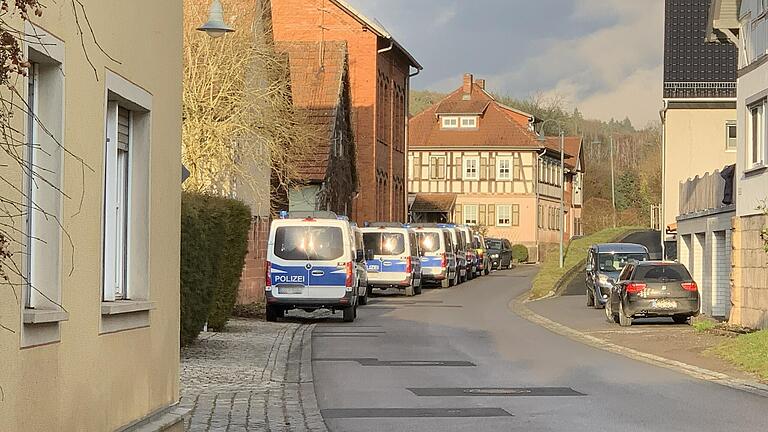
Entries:
{"label": "rear window of the nearest police van, above the POLIZEI lettering", "polygon": [[344,235],[339,227],[279,227],[274,253],[288,261],[332,261],[344,255]]}

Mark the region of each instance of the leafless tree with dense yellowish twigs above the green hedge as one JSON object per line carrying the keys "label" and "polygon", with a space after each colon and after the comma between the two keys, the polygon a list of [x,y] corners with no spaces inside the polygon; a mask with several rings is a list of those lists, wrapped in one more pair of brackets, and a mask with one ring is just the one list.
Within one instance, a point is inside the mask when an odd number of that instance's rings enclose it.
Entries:
{"label": "leafless tree with dense yellowish twigs above the green hedge", "polygon": [[238,30],[217,39],[196,30],[209,3],[184,2],[182,160],[190,170],[184,187],[269,202],[270,169],[273,188],[297,182],[296,162],[314,131],[291,102],[269,2],[228,2],[227,21]]}

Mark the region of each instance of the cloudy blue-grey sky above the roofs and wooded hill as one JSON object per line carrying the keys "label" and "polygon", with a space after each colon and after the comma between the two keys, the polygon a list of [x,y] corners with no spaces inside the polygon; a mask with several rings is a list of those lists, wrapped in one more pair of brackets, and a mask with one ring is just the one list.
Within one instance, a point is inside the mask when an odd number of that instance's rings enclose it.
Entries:
{"label": "cloudy blue-grey sky above the roofs and wooded hill", "polygon": [[464,73],[508,96],[556,96],[587,118],[659,118],[663,0],[347,0],[424,66],[419,90]]}

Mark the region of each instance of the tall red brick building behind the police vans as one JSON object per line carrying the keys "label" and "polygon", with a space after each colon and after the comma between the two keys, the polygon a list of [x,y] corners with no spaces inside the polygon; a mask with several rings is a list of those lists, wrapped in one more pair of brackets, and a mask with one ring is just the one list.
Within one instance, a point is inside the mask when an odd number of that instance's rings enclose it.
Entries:
{"label": "tall red brick building behind the police vans", "polygon": [[404,222],[408,94],[421,65],[343,0],[272,0],[272,26],[276,42],[346,42],[359,191],[350,216]]}

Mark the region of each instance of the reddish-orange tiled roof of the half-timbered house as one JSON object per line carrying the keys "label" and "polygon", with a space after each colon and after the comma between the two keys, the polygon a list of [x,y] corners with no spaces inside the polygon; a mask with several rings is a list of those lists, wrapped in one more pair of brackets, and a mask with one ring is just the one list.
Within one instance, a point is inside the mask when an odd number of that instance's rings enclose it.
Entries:
{"label": "reddish-orange tiled roof of the half-timbered house", "polygon": [[[540,148],[536,135],[520,124],[521,112],[496,102],[477,83],[471,94],[463,87],[414,116],[408,125],[409,147],[514,147]],[[479,114],[476,129],[442,129],[438,115]]]}

